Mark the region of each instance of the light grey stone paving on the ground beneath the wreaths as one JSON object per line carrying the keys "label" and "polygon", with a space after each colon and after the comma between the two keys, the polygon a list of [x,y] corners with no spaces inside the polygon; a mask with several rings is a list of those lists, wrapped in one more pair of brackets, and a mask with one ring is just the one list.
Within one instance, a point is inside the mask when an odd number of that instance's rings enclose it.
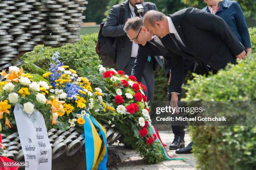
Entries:
{"label": "light grey stone paving on the ground beneath the wreaths", "polygon": [[[161,140],[163,143],[168,146],[172,143],[174,139],[174,134],[172,131],[159,131]],[[188,133],[185,135],[186,146],[191,141]],[[109,170],[195,170],[195,160],[192,154],[177,155],[175,150],[169,150],[169,147],[166,147],[169,155],[174,155],[182,158],[187,158],[186,160],[165,160],[159,164],[148,164],[143,160],[135,150],[127,149],[122,144],[115,143],[112,146],[109,146],[111,150],[119,155],[121,163],[118,165],[108,168]],[[108,148],[109,148],[108,147]]]}

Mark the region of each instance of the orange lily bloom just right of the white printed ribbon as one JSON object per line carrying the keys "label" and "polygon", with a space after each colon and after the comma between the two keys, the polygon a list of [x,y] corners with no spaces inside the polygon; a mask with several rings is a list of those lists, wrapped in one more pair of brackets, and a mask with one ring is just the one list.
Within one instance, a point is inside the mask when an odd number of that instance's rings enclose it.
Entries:
{"label": "orange lily bloom just right of the white printed ribbon", "polygon": [[51,120],[51,124],[52,125],[56,125],[56,118],[54,113],[56,112],[58,115],[63,115],[63,113],[65,113],[64,107],[62,104],[64,104],[64,101],[59,101],[57,100],[54,96],[51,96],[52,100],[47,100],[46,104],[50,104],[51,105],[51,112],[52,112],[52,120]]}

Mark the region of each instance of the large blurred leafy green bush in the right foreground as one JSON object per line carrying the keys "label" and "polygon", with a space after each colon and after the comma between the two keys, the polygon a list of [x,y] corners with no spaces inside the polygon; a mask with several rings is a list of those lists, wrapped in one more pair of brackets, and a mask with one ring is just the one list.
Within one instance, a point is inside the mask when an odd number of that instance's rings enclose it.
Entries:
{"label": "large blurred leafy green bush in the right foreground", "polygon": [[256,54],[251,54],[217,75],[195,75],[184,87],[188,90],[186,101],[247,101],[247,126],[189,127],[197,167],[202,170],[256,169],[255,58]]}

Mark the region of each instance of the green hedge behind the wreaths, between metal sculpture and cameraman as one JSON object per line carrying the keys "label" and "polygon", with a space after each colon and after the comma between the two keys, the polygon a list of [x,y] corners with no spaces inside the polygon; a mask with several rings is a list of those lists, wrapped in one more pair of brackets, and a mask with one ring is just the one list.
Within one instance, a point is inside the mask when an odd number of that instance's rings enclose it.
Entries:
{"label": "green hedge behind the wreaths, between metal sculpture and cameraman", "polygon": [[33,65],[33,63],[44,70],[47,70],[49,65],[49,60],[45,57],[46,54],[53,54],[55,51],[61,53],[61,60],[65,61],[65,65],[69,65],[72,68],[82,68],[84,74],[89,74],[91,69],[97,69],[97,65],[100,64],[100,59],[97,53],[95,52],[95,46],[97,42],[97,34],[91,35],[82,35],[82,40],[76,44],[67,44],[62,47],[53,48],[53,47],[43,47],[38,45],[34,48],[33,51],[27,52],[23,59],[26,61],[22,65],[25,70],[31,73],[38,73],[41,75],[41,72],[38,72]]}

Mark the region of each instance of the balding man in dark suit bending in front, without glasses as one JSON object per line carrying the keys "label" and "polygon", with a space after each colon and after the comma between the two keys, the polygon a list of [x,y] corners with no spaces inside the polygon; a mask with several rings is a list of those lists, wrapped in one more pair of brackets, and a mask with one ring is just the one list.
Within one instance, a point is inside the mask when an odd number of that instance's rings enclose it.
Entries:
{"label": "balding man in dark suit bending in front, without glasses", "polygon": [[[161,42],[172,55],[171,80],[182,84],[184,58],[195,60],[204,70],[217,72],[236,58],[244,60],[246,48],[238,41],[225,21],[196,8],[179,10],[172,15],[148,11],[143,24],[151,35],[161,37]],[[171,83],[171,103],[177,103],[181,89]],[[181,86],[179,86],[181,87]],[[177,104],[174,104],[176,106]],[[179,153],[190,153],[192,144]]]}

